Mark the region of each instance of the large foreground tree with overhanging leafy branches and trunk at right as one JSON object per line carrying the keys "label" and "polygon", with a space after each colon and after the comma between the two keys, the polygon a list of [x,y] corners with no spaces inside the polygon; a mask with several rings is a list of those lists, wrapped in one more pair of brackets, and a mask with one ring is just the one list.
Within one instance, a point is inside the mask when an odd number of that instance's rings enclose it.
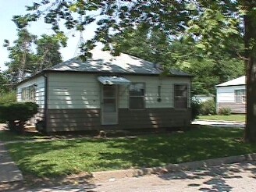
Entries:
{"label": "large foreground tree with overhanging leafy branches and trunk at right", "polygon": [[[45,9],[45,6],[48,9]],[[244,37],[244,60],[247,67],[247,125],[245,140],[256,142],[256,2],[249,0],[119,0],[119,1],[61,1],[42,0],[27,9],[27,16],[18,17],[20,25],[44,17],[46,23],[52,23],[52,29],[61,33],[59,20],[65,26],[81,29],[94,22],[95,14],[100,12],[97,20],[98,29],[92,41],[84,44],[84,52],[92,48],[92,44],[100,41],[112,48],[113,33],[123,34],[126,27],[137,27],[162,30],[166,35],[182,37],[183,41],[196,40],[197,48],[213,52],[212,48],[226,46],[231,38]],[[98,12],[94,12],[98,10]],[[93,13],[92,13],[93,12]],[[84,15],[79,22],[76,15]],[[244,24],[244,31],[241,29]],[[215,46],[213,46],[215,45]],[[115,48],[115,47],[114,47]]]}

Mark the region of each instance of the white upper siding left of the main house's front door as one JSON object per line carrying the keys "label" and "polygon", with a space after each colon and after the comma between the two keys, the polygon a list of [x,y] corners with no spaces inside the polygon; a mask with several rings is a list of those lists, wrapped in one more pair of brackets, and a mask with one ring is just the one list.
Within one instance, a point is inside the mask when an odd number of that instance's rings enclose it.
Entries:
{"label": "white upper siding left of the main house's front door", "polygon": [[96,75],[48,75],[48,108],[100,108],[100,93]]}

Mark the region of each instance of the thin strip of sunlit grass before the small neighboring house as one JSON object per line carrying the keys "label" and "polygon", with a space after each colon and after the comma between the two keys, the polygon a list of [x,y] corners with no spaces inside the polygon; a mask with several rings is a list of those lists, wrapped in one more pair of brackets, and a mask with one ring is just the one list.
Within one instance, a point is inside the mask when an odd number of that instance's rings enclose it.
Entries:
{"label": "thin strip of sunlit grass before the small neighboring house", "polygon": [[230,116],[198,116],[198,119],[207,119],[207,120],[224,120],[224,121],[238,121],[245,122],[245,115],[230,115]]}

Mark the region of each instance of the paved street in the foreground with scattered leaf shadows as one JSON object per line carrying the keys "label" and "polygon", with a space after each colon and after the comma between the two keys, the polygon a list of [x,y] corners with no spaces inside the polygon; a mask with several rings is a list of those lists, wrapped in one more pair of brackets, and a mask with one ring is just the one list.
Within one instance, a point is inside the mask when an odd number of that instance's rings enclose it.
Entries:
{"label": "paved street in the foreground with scattered leaf shadows", "polygon": [[[183,171],[163,175],[142,176],[137,178],[111,179],[105,183],[91,186],[65,186],[24,190],[37,192],[52,191],[255,191],[256,162],[215,166],[197,171]],[[22,190],[19,190],[22,191]]]}

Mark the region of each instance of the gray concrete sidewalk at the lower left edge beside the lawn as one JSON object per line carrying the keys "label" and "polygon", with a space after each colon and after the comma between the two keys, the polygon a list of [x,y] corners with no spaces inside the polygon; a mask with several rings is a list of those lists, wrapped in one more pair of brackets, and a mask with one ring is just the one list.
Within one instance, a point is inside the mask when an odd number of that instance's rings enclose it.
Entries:
{"label": "gray concrete sidewalk at the lower left edge beside the lawn", "polygon": [[23,175],[20,169],[12,162],[5,144],[0,141],[0,183],[22,181]]}

